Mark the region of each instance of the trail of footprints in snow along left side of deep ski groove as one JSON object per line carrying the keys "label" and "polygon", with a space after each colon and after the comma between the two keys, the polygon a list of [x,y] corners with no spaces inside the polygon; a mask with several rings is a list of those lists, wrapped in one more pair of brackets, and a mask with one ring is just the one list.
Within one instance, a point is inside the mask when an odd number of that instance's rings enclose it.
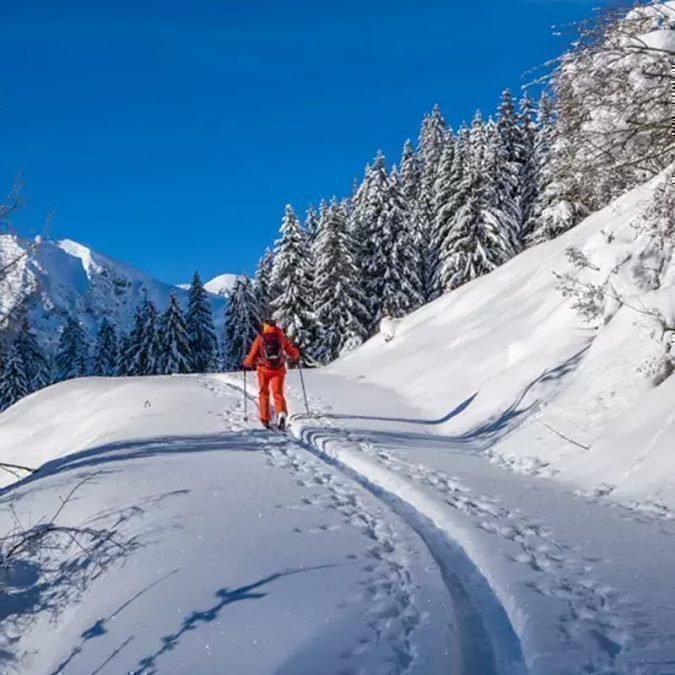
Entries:
{"label": "trail of footprints in snow along left side of deep ski groove", "polygon": [[[209,379],[202,380],[202,384],[217,398],[225,397],[223,387],[240,393],[242,391],[235,385],[221,384]],[[241,400],[227,408],[211,412],[221,418],[224,427],[229,431],[246,434],[251,430],[245,423],[237,422],[238,419],[243,420]],[[371,512],[372,509],[359,496],[362,491],[360,487],[355,490],[349,484],[349,479],[343,480],[339,472],[309,454],[293,437],[270,432],[264,440],[261,438],[260,445],[270,466],[290,471],[296,484],[309,492],[300,504],[290,507],[277,505],[277,508],[337,512],[344,526],[356,528],[367,539],[366,560],[362,567],[366,575],[362,599],[367,601],[369,607],[367,625],[371,634],[362,635],[357,644],[341,654],[341,657],[348,662],[350,658],[367,651],[373,642],[386,643],[395,662],[382,664],[381,671],[370,668],[368,675],[375,675],[376,672],[382,675],[404,675],[416,658],[412,636],[420,625],[422,616],[414,601],[414,580],[406,569],[409,554],[406,544],[383,521],[381,513]],[[305,531],[320,534],[339,527],[341,526],[326,523]],[[300,528],[295,529],[297,533],[302,531]],[[354,561],[358,560],[356,554],[350,554],[349,557]],[[343,606],[347,604],[346,600]],[[361,674],[361,671],[349,668],[341,671],[341,675],[356,673]]]}

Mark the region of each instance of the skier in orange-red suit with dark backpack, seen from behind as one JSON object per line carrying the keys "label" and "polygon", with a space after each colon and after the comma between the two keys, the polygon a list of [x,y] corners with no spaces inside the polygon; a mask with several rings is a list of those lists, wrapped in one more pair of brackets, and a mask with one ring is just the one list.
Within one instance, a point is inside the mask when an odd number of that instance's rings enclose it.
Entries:
{"label": "skier in orange-red suit with dark backpack, seen from behind", "polygon": [[247,370],[257,367],[260,421],[267,429],[270,428],[270,387],[277,413],[277,425],[281,431],[286,429],[288,415],[284,398],[286,357],[293,363],[300,358],[300,350],[290,342],[273,319],[265,319],[260,334],[253,341],[248,356],[244,359],[243,366]]}

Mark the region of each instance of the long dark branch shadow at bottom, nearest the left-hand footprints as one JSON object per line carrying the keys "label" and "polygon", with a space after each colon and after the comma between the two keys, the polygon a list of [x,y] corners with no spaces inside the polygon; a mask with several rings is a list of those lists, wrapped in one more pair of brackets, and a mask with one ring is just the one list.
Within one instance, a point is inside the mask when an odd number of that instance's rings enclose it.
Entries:
{"label": "long dark branch shadow at bottom, nearest the left-hand footprints", "polygon": [[190,614],[182,620],[180,627],[175,633],[170,633],[169,635],[164,635],[160,638],[162,645],[159,649],[138,661],[138,668],[131,671],[130,675],[154,675],[157,673],[157,661],[164,654],[175,649],[186,633],[197,630],[201,625],[211,623],[217,619],[220,612],[228,605],[244,600],[261,600],[268,595],[268,592],[263,591],[262,589],[283,577],[329,569],[335,566],[336,565],[317,565],[314,567],[285,570],[283,572],[270,574],[263,579],[245,586],[240,586],[239,588],[219,588],[215,592],[216,602],[211,607],[190,612]]}

